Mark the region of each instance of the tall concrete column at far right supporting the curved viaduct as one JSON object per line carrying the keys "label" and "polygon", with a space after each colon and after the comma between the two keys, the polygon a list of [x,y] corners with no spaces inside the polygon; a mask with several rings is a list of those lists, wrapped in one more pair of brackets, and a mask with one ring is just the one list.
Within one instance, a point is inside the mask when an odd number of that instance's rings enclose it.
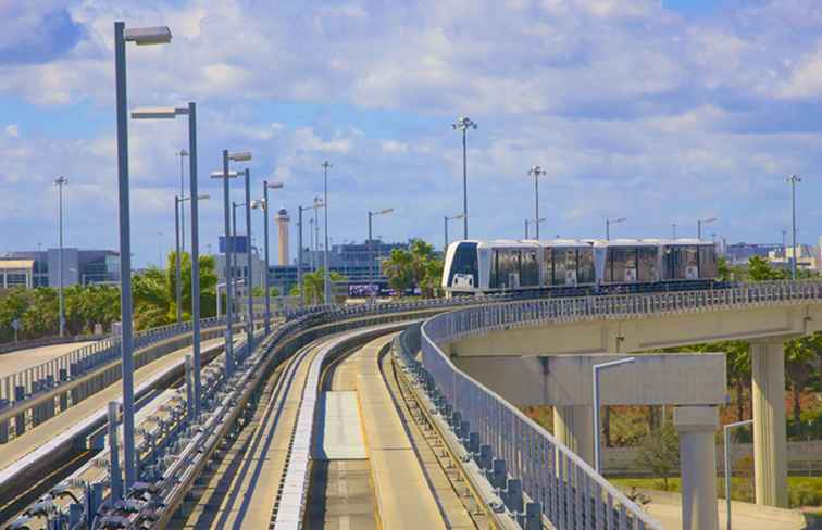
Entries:
{"label": "tall concrete column at far right supporting the curved viaduct", "polygon": [[753,480],[757,504],[787,507],[785,348],[750,343],[753,402]]}

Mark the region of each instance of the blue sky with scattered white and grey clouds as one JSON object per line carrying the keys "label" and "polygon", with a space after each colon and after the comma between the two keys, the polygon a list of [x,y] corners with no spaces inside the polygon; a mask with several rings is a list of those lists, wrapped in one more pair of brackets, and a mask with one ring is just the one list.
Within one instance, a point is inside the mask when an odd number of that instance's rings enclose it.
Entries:
{"label": "blue sky with scattered white and grey clouds", "polygon": [[[521,237],[540,182],[544,235],[706,230],[781,239],[799,173],[799,239],[822,234],[822,5],[813,0],[0,1],[0,252],[117,247],[113,22],[166,24],[171,46],[128,47],[132,106],[199,105],[202,250],[222,201],[205,176],[251,150],[254,195],[296,214],[329,177],[334,242],[443,239],[461,210],[469,115],[473,237]],[[175,152],[186,124],[132,123],[136,265],[173,244]],[[236,199],[241,190],[236,187]],[[295,218],[296,215],[292,215]],[[256,219],[261,234],[260,218]],[[458,232],[454,224],[452,235]],[[162,235],[160,235],[162,234]],[[296,234],[292,236],[296,241]],[[258,239],[259,241],[259,239]]]}

